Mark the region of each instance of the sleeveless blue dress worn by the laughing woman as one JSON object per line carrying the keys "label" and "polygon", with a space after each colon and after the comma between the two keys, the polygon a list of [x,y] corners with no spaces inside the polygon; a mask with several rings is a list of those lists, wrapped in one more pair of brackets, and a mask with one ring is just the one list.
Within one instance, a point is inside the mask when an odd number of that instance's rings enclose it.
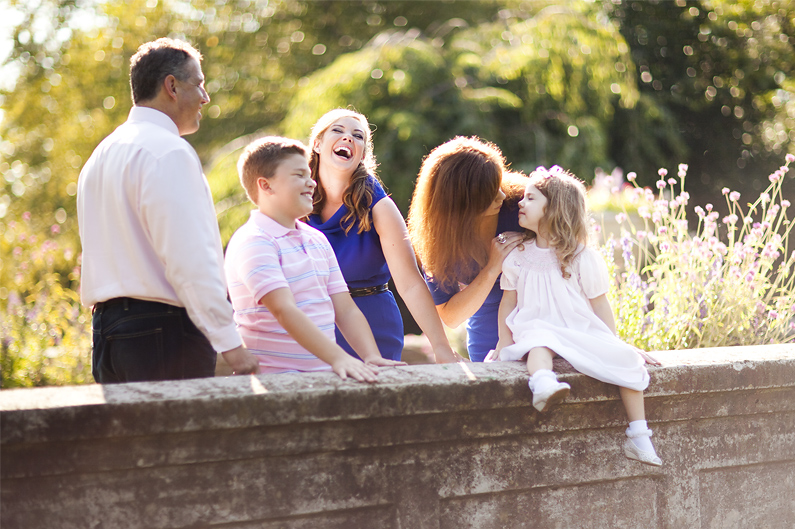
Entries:
{"label": "sleeveless blue dress worn by the laughing woman", "polygon": [[[372,219],[373,207],[386,197],[386,192],[372,176],[368,178],[367,185],[373,190],[373,203],[370,206]],[[346,235],[345,230],[342,229],[342,218],[347,213],[348,207],[343,204],[326,222],[323,222],[320,215],[310,215],[309,225],[322,231],[328,238],[331,247],[334,248],[348,288],[366,288],[386,284],[392,275],[387,267],[384,252],[381,250],[381,239],[378,237],[378,233],[374,227],[371,227],[370,231],[359,234],[359,220],[356,219]],[[381,356],[391,360],[400,360],[400,355],[403,352],[403,319],[392,292],[387,290],[369,296],[355,297],[353,301],[367,318]],[[340,347],[345,349],[348,354],[356,358],[359,357],[339,329],[336,329],[336,336]]]}

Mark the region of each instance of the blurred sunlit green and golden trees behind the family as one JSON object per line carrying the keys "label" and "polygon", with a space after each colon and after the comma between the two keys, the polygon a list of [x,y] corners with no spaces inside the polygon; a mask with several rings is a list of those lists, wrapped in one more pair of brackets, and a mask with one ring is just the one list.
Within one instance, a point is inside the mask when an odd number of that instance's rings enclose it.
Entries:
{"label": "blurred sunlit green and golden trees behind the family", "polygon": [[517,170],[612,185],[685,163],[693,204],[717,209],[724,187],[758,195],[795,141],[791,0],[0,0],[0,19],[4,387],[59,383],[52,365],[86,381],[76,181],[127,116],[131,55],[157,37],[204,55],[212,101],[187,139],[224,241],[251,208],[239,150],[305,140],[338,106],[370,119],[404,212],[423,157],[455,135],[495,142]]}

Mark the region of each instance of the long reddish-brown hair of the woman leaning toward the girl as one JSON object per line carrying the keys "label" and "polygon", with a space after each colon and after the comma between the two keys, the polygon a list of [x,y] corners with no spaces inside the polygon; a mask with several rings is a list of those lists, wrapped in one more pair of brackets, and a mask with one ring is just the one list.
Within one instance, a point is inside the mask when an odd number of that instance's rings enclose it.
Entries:
{"label": "long reddish-brown hair of the woman leaning toward the girl", "polygon": [[488,246],[476,236],[500,188],[517,202],[526,179],[508,173],[500,149],[458,136],[422,162],[408,215],[409,237],[425,272],[445,289],[469,282],[486,265]]}

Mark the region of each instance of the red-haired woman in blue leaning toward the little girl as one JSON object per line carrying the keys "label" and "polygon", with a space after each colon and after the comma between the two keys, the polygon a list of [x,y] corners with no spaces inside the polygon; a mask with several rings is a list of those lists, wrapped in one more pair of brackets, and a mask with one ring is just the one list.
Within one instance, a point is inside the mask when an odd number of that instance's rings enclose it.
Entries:
{"label": "red-haired woman in blue leaning toward the little girl", "polygon": [[411,242],[442,321],[449,327],[466,321],[475,362],[497,345],[499,277],[522,241],[518,204],[526,183],[506,170],[496,145],[457,137],[431,151],[414,187]]}

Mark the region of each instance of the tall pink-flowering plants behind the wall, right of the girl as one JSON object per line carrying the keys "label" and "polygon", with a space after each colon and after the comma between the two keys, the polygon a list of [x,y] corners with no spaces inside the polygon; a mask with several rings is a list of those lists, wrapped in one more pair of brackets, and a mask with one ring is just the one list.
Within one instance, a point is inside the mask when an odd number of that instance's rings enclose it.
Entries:
{"label": "tall pink-flowering plants behind the wall, right of the girl", "polygon": [[616,278],[608,295],[624,340],[652,351],[795,341],[793,222],[781,191],[793,162],[788,154],[752,203],[724,189],[729,213],[722,218],[712,204],[696,206],[694,232],[686,165],[677,178],[660,169],[656,191],[627,175],[643,204],[639,220],[619,213],[618,240],[602,246]]}

